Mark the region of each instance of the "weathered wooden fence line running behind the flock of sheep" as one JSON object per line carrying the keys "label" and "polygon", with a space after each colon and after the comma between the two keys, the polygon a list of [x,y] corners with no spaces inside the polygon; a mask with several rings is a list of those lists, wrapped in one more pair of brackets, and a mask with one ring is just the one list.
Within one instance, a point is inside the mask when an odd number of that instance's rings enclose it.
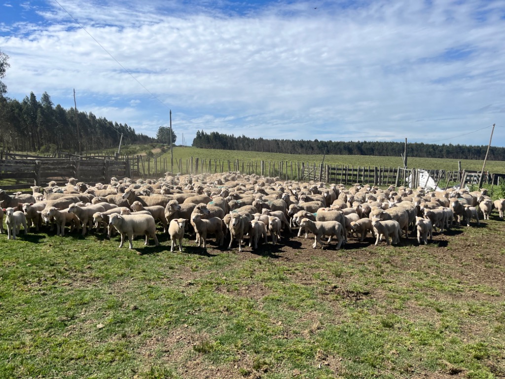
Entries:
{"label": "weathered wooden fence line running behind the flock of sheep", "polygon": [[[56,158],[58,156],[58,158]],[[62,158],[66,157],[66,158]],[[443,181],[477,184],[480,173],[454,170],[426,170],[438,184]],[[31,185],[46,185],[55,180],[66,183],[74,177],[87,183],[107,183],[112,177],[134,179],[159,178],[166,173],[201,174],[240,172],[244,175],[278,177],[281,180],[300,182],[354,183],[419,186],[420,170],[402,167],[334,165],[317,162],[245,161],[189,158],[173,162],[162,154],[153,156],[78,156],[62,153],[55,157],[40,157],[2,152],[0,180],[11,185],[4,189],[23,189]],[[484,182],[498,184],[505,174],[485,173]]]}

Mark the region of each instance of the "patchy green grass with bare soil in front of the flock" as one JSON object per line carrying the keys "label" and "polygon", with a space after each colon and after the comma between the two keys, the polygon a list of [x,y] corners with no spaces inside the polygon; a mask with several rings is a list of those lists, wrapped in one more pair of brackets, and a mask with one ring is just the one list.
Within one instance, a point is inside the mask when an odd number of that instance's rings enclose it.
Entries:
{"label": "patchy green grass with bare soil in front of the flock", "polygon": [[[504,225],[239,254],[0,235],[0,377],[498,378]],[[151,241],[152,243],[152,241]]]}

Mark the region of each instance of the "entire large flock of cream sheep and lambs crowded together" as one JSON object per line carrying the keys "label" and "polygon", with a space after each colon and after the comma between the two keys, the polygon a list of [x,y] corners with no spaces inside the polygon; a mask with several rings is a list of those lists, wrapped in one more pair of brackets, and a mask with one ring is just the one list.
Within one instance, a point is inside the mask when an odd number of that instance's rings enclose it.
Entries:
{"label": "entire large flock of cream sheep and lambs crowded together", "polygon": [[[43,193],[40,190],[43,189]],[[456,189],[425,191],[423,188],[355,184],[299,183],[278,178],[225,174],[170,175],[159,180],[113,178],[110,184],[91,186],[71,178],[64,187],[56,182],[47,187],[32,187],[33,194],[8,195],[0,189],[0,232],[7,226],[8,239],[16,239],[21,226],[24,233],[43,223],[52,225],[64,236],[66,227],[107,231],[110,238],[117,231],[121,248],[126,240],[133,249],[136,235],[145,235],[145,245],[153,239],[158,246],[157,225],[168,233],[171,251],[182,251],[184,236],[195,236],[198,247],[207,247],[210,234],[216,244],[228,249],[235,242],[242,251],[244,238],[249,247],[261,241],[277,244],[282,238],[309,233],[315,236],[313,248],[323,246],[323,238],[336,239],[336,249],[348,239],[363,242],[370,232],[375,245],[398,244],[403,236],[417,232],[419,244],[427,244],[433,231],[442,233],[454,223],[479,224],[479,214],[489,219],[493,209],[503,218],[505,199],[494,202],[486,191]],[[194,233],[194,234],[193,234]]]}

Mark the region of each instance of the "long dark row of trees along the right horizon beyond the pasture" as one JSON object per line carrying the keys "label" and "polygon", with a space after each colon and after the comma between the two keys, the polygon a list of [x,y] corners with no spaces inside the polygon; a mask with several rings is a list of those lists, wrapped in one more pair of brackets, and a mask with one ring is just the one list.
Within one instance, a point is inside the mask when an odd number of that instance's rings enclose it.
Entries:
{"label": "long dark row of trees along the right horizon beyond the pasture", "polygon": [[[294,139],[249,138],[244,135],[235,137],[218,132],[196,132],[193,146],[204,149],[224,149],[258,151],[284,154],[334,154],[334,155],[375,155],[399,156],[405,150],[405,143],[386,141],[313,141]],[[487,146],[434,145],[409,143],[409,157],[451,158],[451,159],[484,159]],[[489,160],[504,161],[505,148],[491,147]]]}

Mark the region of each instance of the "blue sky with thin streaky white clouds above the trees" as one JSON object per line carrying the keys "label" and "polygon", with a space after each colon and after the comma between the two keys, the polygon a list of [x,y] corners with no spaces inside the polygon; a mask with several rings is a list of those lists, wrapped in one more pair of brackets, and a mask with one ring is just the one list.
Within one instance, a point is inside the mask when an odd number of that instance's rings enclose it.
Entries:
{"label": "blue sky with thin streaky white clouds above the trees", "polygon": [[0,0],[8,95],[177,142],[505,146],[505,0]]}

